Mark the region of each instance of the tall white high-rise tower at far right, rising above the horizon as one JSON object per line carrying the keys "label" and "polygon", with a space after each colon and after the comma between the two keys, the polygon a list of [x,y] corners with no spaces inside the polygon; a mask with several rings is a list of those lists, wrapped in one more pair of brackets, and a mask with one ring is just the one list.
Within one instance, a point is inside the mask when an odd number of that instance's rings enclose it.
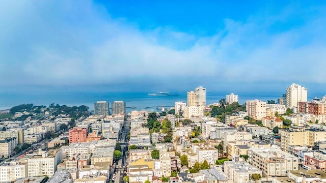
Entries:
{"label": "tall white high-rise tower at far right, rising above the horizon", "polygon": [[298,85],[291,84],[286,88],[286,107],[297,107],[297,102],[307,102],[308,89]]}

